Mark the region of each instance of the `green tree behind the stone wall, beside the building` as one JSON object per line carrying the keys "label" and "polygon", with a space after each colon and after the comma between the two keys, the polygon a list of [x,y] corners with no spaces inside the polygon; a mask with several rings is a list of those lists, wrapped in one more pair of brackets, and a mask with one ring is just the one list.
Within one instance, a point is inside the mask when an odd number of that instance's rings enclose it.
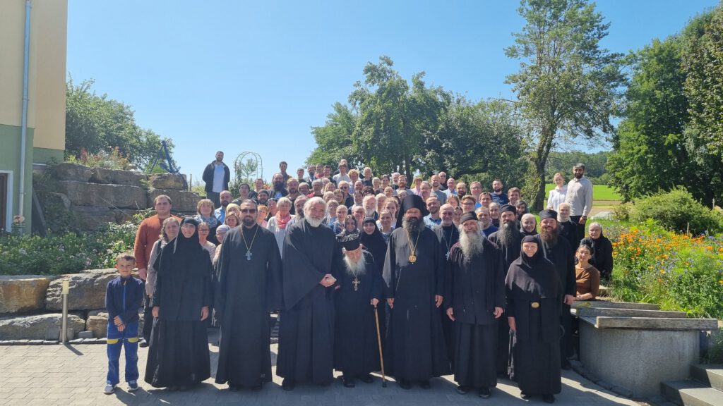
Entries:
{"label": "green tree behind the stone wall, beside the building", "polygon": [[[161,150],[161,137],[135,122],[129,105],[97,95],[93,80],[75,85],[69,77],[66,85],[65,150],[68,155],[80,156],[81,150],[90,153],[118,147],[122,155],[138,168],[153,163]],[[166,139],[169,151],[173,142]]]}

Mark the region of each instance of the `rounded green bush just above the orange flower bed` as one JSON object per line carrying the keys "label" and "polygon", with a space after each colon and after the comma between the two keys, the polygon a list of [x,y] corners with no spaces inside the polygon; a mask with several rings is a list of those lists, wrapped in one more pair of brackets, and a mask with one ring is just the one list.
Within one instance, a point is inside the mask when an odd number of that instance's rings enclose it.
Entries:
{"label": "rounded green bush just above the orange flower bed", "polygon": [[683,188],[662,192],[638,200],[630,213],[630,220],[643,223],[655,220],[668,230],[693,235],[723,232],[723,215],[696,202]]}

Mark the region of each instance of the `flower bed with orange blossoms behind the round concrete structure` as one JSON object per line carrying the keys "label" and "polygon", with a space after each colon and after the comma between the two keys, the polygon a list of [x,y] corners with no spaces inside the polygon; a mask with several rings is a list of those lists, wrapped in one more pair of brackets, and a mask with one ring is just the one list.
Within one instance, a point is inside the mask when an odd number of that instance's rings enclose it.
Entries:
{"label": "flower bed with orange blossoms behind the round concrete structure", "polygon": [[723,235],[686,236],[651,222],[606,233],[616,298],[723,319]]}

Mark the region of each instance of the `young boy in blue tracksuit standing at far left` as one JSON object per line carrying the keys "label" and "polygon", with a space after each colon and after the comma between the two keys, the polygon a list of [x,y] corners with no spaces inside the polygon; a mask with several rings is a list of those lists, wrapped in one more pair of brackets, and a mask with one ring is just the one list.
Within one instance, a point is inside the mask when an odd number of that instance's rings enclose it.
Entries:
{"label": "young boy in blue tracksuit standing at far left", "polygon": [[[135,267],[132,254],[120,254],[116,258],[119,277],[108,282],[106,309],[108,310],[108,377],[106,394],[115,391],[119,384],[119,359],[121,347],[126,349],[126,381],[128,391],[138,389],[138,308],[143,295],[143,281],[131,276]],[[150,321],[147,321],[150,322]]]}

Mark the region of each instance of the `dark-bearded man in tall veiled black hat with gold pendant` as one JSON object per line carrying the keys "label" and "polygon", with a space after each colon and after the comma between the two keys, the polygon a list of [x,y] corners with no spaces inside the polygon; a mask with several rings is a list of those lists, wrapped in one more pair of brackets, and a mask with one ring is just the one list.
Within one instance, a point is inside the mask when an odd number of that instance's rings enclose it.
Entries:
{"label": "dark-bearded man in tall veiled black hat with gold pendant", "polygon": [[449,372],[438,308],[444,290],[445,252],[434,231],[424,227],[422,197],[404,198],[389,238],[384,282],[390,307],[385,367],[403,389]]}

